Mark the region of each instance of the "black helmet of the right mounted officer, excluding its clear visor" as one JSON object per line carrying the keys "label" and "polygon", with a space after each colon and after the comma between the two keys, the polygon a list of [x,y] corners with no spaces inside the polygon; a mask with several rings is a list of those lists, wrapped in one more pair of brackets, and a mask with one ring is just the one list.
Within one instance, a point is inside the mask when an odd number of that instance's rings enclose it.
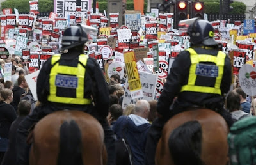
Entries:
{"label": "black helmet of the right mounted officer, excluding its clear visor", "polygon": [[218,43],[213,39],[214,29],[209,21],[196,19],[189,28],[188,34],[190,36],[191,45],[205,45],[216,46]]}

